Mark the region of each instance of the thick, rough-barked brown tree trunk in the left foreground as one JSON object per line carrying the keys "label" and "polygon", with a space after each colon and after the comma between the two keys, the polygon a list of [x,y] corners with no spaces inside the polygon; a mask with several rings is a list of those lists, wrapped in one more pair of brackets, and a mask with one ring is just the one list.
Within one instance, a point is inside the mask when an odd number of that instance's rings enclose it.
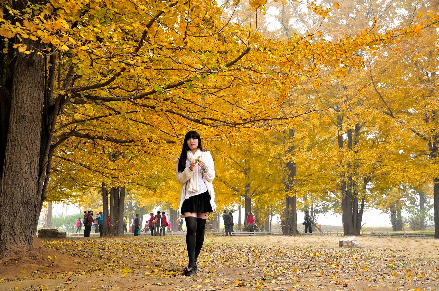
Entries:
{"label": "thick, rough-barked brown tree trunk in the left foreground", "polygon": [[[27,2],[12,1],[13,9],[22,10],[24,5]],[[22,43],[37,51],[43,49],[40,41],[23,39]],[[9,108],[4,107],[8,103],[5,101],[2,101],[0,108],[2,120],[7,118],[3,114],[9,112],[7,136],[1,136],[4,152],[0,153],[0,160],[4,163],[0,172],[0,256],[26,252],[32,248],[32,238],[36,234],[45,198],[45,172],[40,167],[44,160],[40,151],[47,144],[47,141],[44,144],[41,142],[44,59],[14,50],[15,57],[10,64],[13,70],[11,93],[4,96],[5,90],[0,90],[0,99],[10,99]],[[5,71],[3,65],[0,65],[2,78]],[[1,124],[2,133],[6,133],[4,125]],[[6,221],[14,221],[14,227],[4,223]]]}

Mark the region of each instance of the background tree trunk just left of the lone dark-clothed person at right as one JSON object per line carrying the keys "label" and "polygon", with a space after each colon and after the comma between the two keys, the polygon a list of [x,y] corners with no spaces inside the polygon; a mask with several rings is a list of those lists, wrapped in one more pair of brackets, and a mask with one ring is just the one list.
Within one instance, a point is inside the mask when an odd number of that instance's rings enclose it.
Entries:
{"label": "background tree trunk just left of the lone dark-clothed person at right", "polygon": [[[289,143],[288,152],[291,153],[295,149],[293,142],[294,130],[290,129],[288,132]],[[297,196],[295,195],[294,183],[297,174],[296,163],[288,161],[286,163],[288,169],[288,178],[285,181],[285,208],[282,216],[282,233],[288,235],[298,235],[297,230]]]}

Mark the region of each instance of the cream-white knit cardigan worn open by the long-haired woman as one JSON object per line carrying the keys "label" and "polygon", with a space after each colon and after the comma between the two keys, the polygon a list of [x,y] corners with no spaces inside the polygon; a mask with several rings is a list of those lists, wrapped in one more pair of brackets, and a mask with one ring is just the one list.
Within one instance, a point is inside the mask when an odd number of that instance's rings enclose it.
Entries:
{"label": "cream-white knit cardigan worn open by the long-haired woman", "polygon": [[[210,195],[210,206],[212,206],[213,212],[216,211],[216,203],[215,203],[215,191],[213,190],[212,181],[215,178],[215,166],[213,165],[213,159],[210,152],[202,152],[201,158],[204,164],[209,169],[207,173],[203,173],[203,181],[206,185],[207,191]],[[184,198],[186,197],[186,182],[191,178],[192,171],[189,167],[184,168],[184,171],[178,172],[178,159],[175,159],[177,164],[175,172],[177,175],[177,182],[181,184],[180,189],[180,200],[178,202],[178,213],[181,214],[181,206],[183,205]]]}

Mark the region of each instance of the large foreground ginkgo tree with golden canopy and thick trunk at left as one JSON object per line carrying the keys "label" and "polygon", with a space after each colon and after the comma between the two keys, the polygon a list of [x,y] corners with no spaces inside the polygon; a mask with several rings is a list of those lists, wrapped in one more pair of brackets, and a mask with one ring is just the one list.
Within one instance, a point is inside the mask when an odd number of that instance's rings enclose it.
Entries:
{"label": "large foreground ginkgo tree with golden canopy and thick trunk at left", "polygon": [[[308,6],[327,17],[338,5]],[[209,1],[7,0],[1,8],[0,208],[8,211],[0,219],[22,217],[13,229],[0,225],[1,256],[31,249],[54,153],[69,142],[156,155],[187,124],[210,136],[273,126],[304,113],[284,106],[300,78],[317,88],[326,67],[334,76],[361,69],[360,48],[437,23],[430,13],[399,30],[282,42],[224,21]]]}

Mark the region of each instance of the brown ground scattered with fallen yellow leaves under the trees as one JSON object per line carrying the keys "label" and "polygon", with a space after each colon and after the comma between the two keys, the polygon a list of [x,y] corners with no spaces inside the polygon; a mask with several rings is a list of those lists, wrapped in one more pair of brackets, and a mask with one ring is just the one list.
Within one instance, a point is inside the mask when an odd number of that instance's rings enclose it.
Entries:
{"label": "brown ground scattered with fallen yellow leaves under the trees", "polygon": [[3,261],[0,290],[439,290],[439,241],[359,241],[345,249],[336,237],[206,236],[191,277],[181,274],[184,237],[43,241],[49,263]]}

